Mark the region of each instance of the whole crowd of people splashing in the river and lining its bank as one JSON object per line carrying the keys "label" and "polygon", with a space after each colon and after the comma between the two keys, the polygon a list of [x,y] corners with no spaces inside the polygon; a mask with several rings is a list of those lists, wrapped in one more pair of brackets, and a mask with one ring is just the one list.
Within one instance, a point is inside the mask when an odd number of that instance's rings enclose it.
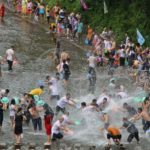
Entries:
{"label": "whole crowd of people splashing in the river and lining its bank", "polygon": [[[8,1],[8,5],[11,5],[11,1]],[[44,112],[44,125],[47,135],[46,144],[50,145],[51,142],[57,139],[62,139],[64,134],[72,136],[73,130],[69,125],[82,125],[81,122],[72,121],[69,119],[69,110],[66,110],[66,106],[70,105],[74,109],[78,109],[80,113],[95,113],[99,114],[99,121],[103,122],[101,130],[107,131],[107,139],[111,144],[112,138],[116,144],[120,144],[122,135],[120,130],[125,128],[129,132],[127,141],[130,143],[133,138],[139,143],[139,129],[134,123],[136,120],[142,119],[143,131],[149,132],[150,128],[150,48],[143,48],[139,43],[134,43],[132,37],[125,34],[125,39],[119,45],[115,40],[115,33],[112,28],[104,28],[101,34],[98,34],[90,26],[87,27],[87,35],[83,38],[84,27],[82,22],[82,16],[79,13],[68,14],[65,8],[61,8],[56,5],[52,8],[48,8],[44,3],[27,2],[22,0],[15,1],[15,12],[24,13],[27,15],[34,15],[34,21],[43,22],[47,20],[50,28],[50,34],[55,42],[56,50],[54,52],[54,60],[56,65],[56,76],[46,76],[44,83],[41,83],[38,88],[31,91],[27,91],[19,99],[9,99],[9,89],[2,89],[0,91],[0,132],[5,119],[3,112],[9,110],[11,127],[14,130],[16,143],[21,143],[21,135],[23,133],[23,125],[27,126],[32,120],[33,130],[35,133],[42,132],[42,117],[40,112]],[[3,8],[2,8],[3,7]],[[1,18],[4,17],[4,4],[0,7]],[[93,99],[91,103],[81,102],[78,104],[72,99],[70,93],[66,93],[61,97],[59,93],[58,82],[63,80],[62,86],[67,87],[69,84],[70,61],[71,56],[68,52],[62,50],[61,42],[62,38],[66,37],[68,40],[76,41],[78,44],[85,44],[89,48],[85,59],[88,66],[88,80],[89,91],[94,94],[96,85],[96,78],[100,75],[97,68],[109,68],[108,75],[111,76],[110,84],[108,88],[100,94],[98,99]],[[4,59],[0,58],[0,63],[7,61],[8,71],[13,70],[13,62],[16,61],[14,47],[6,51]],[[121,68],[124,70],[130,69],[129,76],[136,83],[147,92],[147,95],[141,98],[138,109],[131,106],[129,103],[123,103],[123,106],[119,106],[116,103],[115,108],[111,108],[113,112],[127,112],[128,116],[122,118],[122,127],[116,127],[113,122],[110,121],[110,115],[106,111],[108,107],[111,107],[111,101],[114,99],[125,99],[128,97],[123,85],[117,85],[116,79],[113,77],[115,71]],[[1,69],[0,69],[1,75]],[[51,104],[41,100],[40,96],[43,94],[44,89],[48,88],[50,91],[50,100],[54,101],[55,110]],[[138,106],[138,105],[137,105]],[[59,113],[62,115],[58,118]]]}

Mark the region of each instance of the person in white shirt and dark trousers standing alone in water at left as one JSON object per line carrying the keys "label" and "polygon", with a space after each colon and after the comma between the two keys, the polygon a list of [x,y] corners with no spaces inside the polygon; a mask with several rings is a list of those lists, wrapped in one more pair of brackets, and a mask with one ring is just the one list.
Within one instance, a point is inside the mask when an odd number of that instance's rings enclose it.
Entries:
{"label": "person in white shirt and dark trousers standing alone in water at left", "polygon": [[14,47],[12,46],[10,49],[6,50],[6,60],[7,60],[7,63],[8,63],[8,71],[12,71],[12,66],[13,66],[13,61],[14,61],[14,58],[15,58],[15,55],[14,55]]}

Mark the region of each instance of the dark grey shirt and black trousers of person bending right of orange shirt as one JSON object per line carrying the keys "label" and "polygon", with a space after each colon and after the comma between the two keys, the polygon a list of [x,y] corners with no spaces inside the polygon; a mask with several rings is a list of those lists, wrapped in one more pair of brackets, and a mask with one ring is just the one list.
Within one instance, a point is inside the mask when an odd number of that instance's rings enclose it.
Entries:
{"label": "dark grey shirt and black trousers of person bending right of orange shirt", "polygon": [[135,138],[137,141],[139,141],[139,132],[136,126],[130,122],[130,121],[124,121],[123,127],[127,129],[127,131],[130,133],[127,141],[131,142],[133,138]]}

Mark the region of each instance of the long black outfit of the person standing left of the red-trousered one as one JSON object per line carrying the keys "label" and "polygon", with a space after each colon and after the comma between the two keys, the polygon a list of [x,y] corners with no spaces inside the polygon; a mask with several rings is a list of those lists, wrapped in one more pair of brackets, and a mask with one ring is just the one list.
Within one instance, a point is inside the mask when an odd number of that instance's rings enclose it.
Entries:
{"label": "long black outfit of the person standing left of the red-trousered one", "polygon": [[16,135],[20,135],[23,133],[22,122],[23,122],[23,115],[16,114],[15,115],[15,128],[14,128],[14,133]]}

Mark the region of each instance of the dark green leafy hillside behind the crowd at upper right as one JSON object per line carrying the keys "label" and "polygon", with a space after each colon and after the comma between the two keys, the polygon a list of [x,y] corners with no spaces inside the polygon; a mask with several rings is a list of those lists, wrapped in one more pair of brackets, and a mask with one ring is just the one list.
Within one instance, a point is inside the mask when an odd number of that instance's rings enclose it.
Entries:
{"label": "dark green leafy hillside behind the crowd at upper right", "polygon": [[56,1],[69,12],[80,12],[83,21],[96,31],[111,26],[119,41],[126,32],[136,40],[136,28],[138,28],[146,39],[144,46],[150,46],[150,0],[105,0],[107,14],[104,14],[103,0],[85,0],[89,7],[87,11],[82,9],[80,0],[47,0],[51,6]]}

